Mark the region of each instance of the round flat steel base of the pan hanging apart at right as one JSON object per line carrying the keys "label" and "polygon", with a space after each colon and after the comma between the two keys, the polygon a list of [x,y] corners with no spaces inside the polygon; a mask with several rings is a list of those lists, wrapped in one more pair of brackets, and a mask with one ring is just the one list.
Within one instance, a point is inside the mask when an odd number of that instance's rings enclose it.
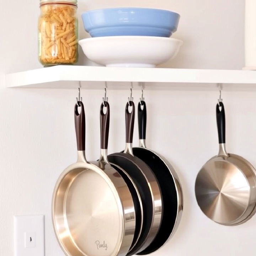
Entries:
{"label": "round flat steel base of the pan hanging apart at right", "polygon": [[198,205],[207,217],[228,225],[238,220],[250,201],[250,185],[242,170],[225,160],[209,160],[195,186]]}

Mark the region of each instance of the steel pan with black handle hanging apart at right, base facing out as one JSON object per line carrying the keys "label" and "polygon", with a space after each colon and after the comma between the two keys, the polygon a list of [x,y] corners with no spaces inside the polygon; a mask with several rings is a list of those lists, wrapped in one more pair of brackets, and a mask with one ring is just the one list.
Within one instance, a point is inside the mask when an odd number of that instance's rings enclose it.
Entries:
{"label": "steel pan with black handle hanging apart at right, base facing out", "polygon": [[256,211],[256,171],[244,158],[225,148],[225,110],[216,106],[219,154],[206,162],[196,178],[199,207],[214,222],[239,225]]}

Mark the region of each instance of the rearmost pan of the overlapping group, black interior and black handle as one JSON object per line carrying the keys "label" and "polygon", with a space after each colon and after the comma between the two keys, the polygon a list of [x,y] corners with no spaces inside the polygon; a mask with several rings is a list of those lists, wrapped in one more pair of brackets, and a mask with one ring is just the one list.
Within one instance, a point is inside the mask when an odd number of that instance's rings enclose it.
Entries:
{"label": "rearmost pan of the overlapping group, black interior and black handle", "polygon": [[162,192],[162,222],[155,239],[139,255],[150,254],[163,246],[175,233],[182,215],[183,196],[180,181],[174,168],[162,156],[147,149],[146,139],[146,103],[138,104],[139,147],[133,153],[142,159],[154,172]]}

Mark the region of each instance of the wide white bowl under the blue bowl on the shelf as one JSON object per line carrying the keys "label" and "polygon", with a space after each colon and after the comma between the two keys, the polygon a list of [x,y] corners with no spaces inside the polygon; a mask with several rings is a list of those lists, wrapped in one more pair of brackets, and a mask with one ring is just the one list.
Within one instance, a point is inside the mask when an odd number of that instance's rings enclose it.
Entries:
{"label": "wide white bowl under the blue bowl on the shelf", "polygon": [[167,37],[111,36],[79,41],[88,59],[110,67],[154,68],[173,59],[182,41]]}

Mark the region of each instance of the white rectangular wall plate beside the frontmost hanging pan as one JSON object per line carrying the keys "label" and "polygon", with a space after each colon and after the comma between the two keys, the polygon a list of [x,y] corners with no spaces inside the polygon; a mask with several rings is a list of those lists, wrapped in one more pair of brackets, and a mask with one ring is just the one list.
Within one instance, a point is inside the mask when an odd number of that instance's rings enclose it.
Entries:
{"label": "white rectangular wall plate beside the frontmost hanging pan", "polygon": [[14,256],[44,256],[44,215],[14,216]]}

